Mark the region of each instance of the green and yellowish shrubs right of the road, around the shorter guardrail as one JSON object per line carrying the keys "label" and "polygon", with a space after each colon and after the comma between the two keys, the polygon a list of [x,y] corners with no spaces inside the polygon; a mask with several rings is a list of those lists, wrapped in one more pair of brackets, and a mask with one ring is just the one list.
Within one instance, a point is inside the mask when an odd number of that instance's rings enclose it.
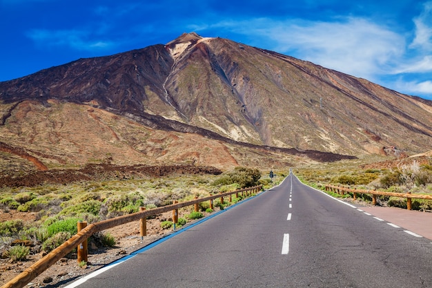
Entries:
{"label": "green and yellowish shrubs right of the road, around the shorter guardrail", "polygon": [[[393,168],[371,168],[369,165],[359,165],[355,162],[339,162],[326,164],[324,167],[304,167],[295,169],[297,177],[302,182],[317,189],[324,190],[326,184],[350,187],[351,189],[365,189],[388,191],[395,193],[420,193],[432,194],[432,160],[401,161]],[[331,193],[331,192],[327,192]],[[353,197],[351,193],[339,195],[331,193],[335,197]],[[360,194],[360,201],[371,202],[371,195]],[[377,204],[388,207],[400,207],[406,209],[406,198],[380,196]],[[432,201],[413,199],[412,209],[432,211]]]}

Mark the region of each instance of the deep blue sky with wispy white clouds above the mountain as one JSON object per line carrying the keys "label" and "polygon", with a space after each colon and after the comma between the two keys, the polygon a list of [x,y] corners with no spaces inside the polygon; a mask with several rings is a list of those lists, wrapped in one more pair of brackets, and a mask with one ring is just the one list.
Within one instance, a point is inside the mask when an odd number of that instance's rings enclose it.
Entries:
{"label": "deep blue sky with wispy white clouds above the mountain", "polygon": [[0,0],[0,81],[193,31],[432,99],[432,0]]}

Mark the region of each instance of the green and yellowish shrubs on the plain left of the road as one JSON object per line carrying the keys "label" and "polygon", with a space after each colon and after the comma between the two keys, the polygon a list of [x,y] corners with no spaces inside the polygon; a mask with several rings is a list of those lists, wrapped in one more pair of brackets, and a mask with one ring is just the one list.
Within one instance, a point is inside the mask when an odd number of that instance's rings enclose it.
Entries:
{"label": "green and yellowish shrubs on the plain left of the road", "polygon": [[[275,180],[282,181],[283,176],[276,176],[273,178]],[[181,174],[34,187],[3,187],[0,188],[0,209],[5,213],[31,213],[35,220],[8,220],[0,223],[1,256],[25,260],[29,253],[52,251],[77,233],[78,221],[85,220],[90,224],[137,212],[139,207],[153,209],[173,204],[174,200],[183,202],[193,200],[195,196],[203,198],[259,184],[264,189],[273,186],[268,174],[262,175],[257,169],[237,167],[221,175]],[[242,195],[238,198],[233,195],[232,203],[240,200]],[[214,200],[214,207],[218,209],[224,209],[229,204],[228,200]],[[204,212],[213,212],[208,202],[199,204],[199,212],[190,210],[184,218],[179,218],[177,227],[202,218]],[[172,219],[161,220],[160,226],[170,229],[173,226]],[[114,247],[116,240],[110,234],[100,232],[93,235],[89,242],[97,247]]]}

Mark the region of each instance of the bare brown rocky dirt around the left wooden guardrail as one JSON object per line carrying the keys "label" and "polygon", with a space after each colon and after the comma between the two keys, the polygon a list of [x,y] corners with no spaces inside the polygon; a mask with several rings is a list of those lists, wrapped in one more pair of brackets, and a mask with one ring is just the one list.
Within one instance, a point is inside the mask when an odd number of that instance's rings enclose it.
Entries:
{"label": "bare brown rocky dirt around the left wooden guardrail", "polygon": [[[185,215],[188,213],[190,212],[186,209],[180,210],[179,217],[185,218]],[[202,213],[204,216],[208,215],[208,213]],[[4,213],[2,211],[0,213],[0,220],[6,221],[21,219],[25,221],[33,221],[35,220],[35,214],[36,213],[23,213],[17,211]],[[64,287],[80,276],[84,276],[92,271],[104,267],[104,265],[107,265],[110,262],[127,256],[130,253],[163,238],[164,236],[168,236],[169,233],[173,233],[173,229],[164,230],[160,227],[162,221],[170,220],[172,216],[172,212],[167,212],[157,215],[157,218],[155,219],[147,220],[147,236],[144,237],[143,240],[141,240],[141,236],[139,236],[139,221],[130,222],[119,227],[108,229],[105,232],[110,233],[117,240],[115,247],[101,249],[89,244],[87,265],[79,267],[76,255],[72,255],[73,258],[61,258],[61,260],[57,261],[55,265],[52,265],[37,278],[30,281],[26,287]],[[189,223],[190,222],[188,222],[188,224]],[[1,244],[2,243],[0,243],[0,245]],[[37,251],[38,249],[38,245],[31,247],[30,256],[28,256],[28,259],[25,261],[11,262],[9,258],[0,259],[0,285],[6,284],[6,282],[12,280],[12,278],[40,260],[44,256],[44,253]]]}

